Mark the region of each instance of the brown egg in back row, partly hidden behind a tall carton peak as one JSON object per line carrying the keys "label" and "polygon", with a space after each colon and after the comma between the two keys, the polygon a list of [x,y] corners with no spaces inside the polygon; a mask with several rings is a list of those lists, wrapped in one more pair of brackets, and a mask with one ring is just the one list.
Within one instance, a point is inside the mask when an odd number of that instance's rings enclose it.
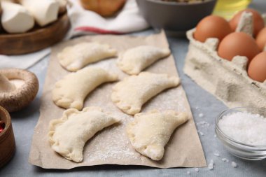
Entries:
{"label": "brown egg in back row, partly hidden behind a tall carton peak", "polygon": [[258,32],[264,27],[264,21],[260,13],[258,11],[247,8],[245,10],[239,11],[232,19],[230,20],[229,24],[233,31],[237,29],[237,24],[240,20],[241,14],[243,12],[250,12],[253,14],[253,36],[257,36]]}

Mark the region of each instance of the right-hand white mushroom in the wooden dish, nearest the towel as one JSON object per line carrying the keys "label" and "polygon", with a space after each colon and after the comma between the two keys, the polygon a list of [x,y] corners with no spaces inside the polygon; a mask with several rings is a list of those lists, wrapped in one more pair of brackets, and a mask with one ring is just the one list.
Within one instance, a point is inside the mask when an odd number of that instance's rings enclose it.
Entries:
{"label": "right-hand white mushroom in the wooden dish, nearest the towel", "polygon": [[22,6],[25,6],[36,22],[45,26],[57,20],[59,12],[59,2],[55,0],[18,0]]}

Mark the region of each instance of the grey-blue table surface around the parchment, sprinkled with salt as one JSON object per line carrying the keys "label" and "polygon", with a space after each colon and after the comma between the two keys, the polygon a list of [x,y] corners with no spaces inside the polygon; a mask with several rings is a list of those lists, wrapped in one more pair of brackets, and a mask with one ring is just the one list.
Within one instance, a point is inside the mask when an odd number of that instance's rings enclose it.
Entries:
{"label": "grey-blue table surface around the parchment, sprinkled with salt", "polygon": [[[251,3],[252,8],[266,12],[266,1],[257,0]],[[142,31],[137,35],[153,34],[153,30]],[[29,70],[34,72],[40,83],[36,99],[24,110],[12,113],[12,124],[15,134],[16,151],[13,159],[0,169],[0,176],[266,176],[266,160],[246,161],[234,157],[225,150],[221,142],[214,136],[215,118],[227,107],[209,92],[203,90],[183,73],[183,64],[188,51],[186,38],[168,36],[176,66],[186,91],[195,123],[208,122],[208,126],[197,125],[204,149],[207,164],[214,160],[214,169],[174,168],[155,169],[150,167],[101,165],[95,167],[79,167],[71,170],[41,169],[28,163],[31,138],[39,117],[41,94],[45,80],[49,57],[45,57]],[[202,114],[203,116],[200,116]],[[1,150],[0,150],[1,153]],[[178,153],[178,152],[176,152]],[[220,157],[214,155],[218,153]],[[229,162],[223,162],[227,158]],[[237,168],[231,162],[237,163]],[[190,174],[188,174],[190,171]]]}

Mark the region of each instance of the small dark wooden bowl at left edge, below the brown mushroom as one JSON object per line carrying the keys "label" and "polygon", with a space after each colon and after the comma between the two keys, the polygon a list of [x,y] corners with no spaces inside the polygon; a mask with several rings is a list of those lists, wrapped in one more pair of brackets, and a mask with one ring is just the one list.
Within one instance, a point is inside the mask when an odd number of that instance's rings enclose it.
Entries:
{"label": "small dark wooden bowl at left edge, below the brown mushroom", "polygon": [[0,120],[5,122],[5,128],[0,133],[0,168],[6,164],[15,153],[15,138],[8,111],[0,106]]}

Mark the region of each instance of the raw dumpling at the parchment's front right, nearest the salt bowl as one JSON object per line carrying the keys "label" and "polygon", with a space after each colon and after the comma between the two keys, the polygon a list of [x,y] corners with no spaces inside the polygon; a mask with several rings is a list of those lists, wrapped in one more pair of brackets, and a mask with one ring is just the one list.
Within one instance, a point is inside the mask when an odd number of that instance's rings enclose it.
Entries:
{"label": "raw dumpling at the parchment's front right, nearest the salt bowl", "polygon": [[174,129],[187,120],[187,113],[175,111],[138,113],[127,125],[127,136],[139,153],[152,160],[161,160]]}

